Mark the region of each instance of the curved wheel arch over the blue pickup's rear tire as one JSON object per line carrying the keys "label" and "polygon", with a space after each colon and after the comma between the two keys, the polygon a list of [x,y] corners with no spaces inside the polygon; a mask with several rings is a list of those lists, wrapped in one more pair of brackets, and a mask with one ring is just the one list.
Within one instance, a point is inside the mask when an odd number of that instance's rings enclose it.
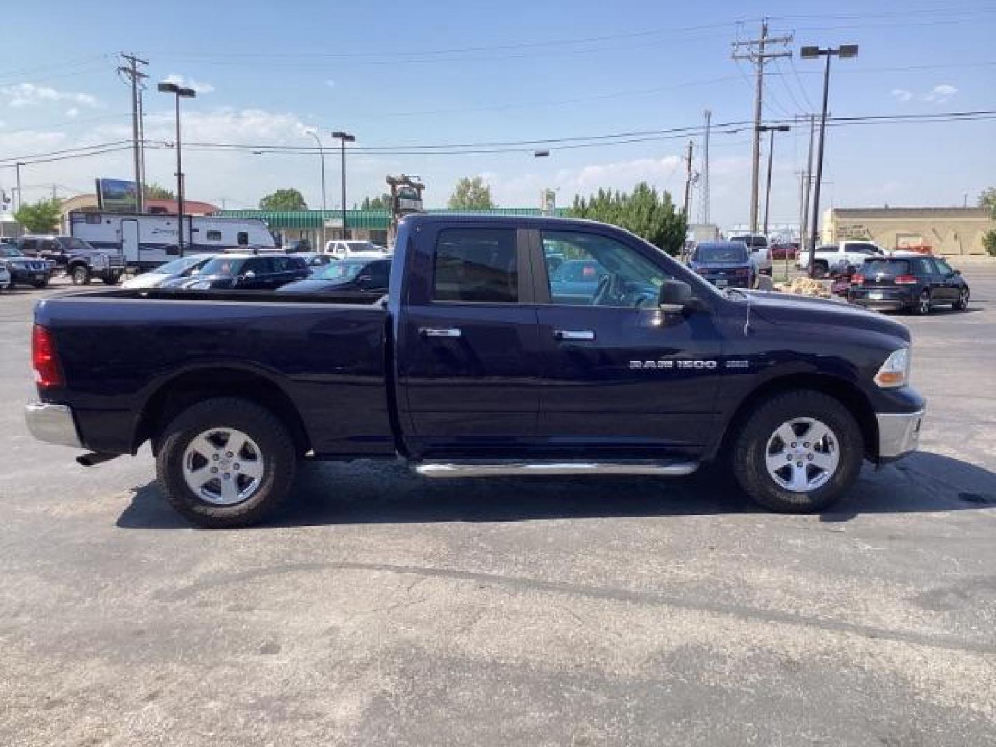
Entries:
{"label": "curved wheel arch over the blue pickup's rear tire", "polygon": [[146,440],[155,453],[158,435],[177,414],[196,402],[222,396],[266,407],[287,426],[299,454],[311,448],[298,407],[279,381],[255,370],[217,365],[176,373],[155,387],[139,410],[132,453]]}

